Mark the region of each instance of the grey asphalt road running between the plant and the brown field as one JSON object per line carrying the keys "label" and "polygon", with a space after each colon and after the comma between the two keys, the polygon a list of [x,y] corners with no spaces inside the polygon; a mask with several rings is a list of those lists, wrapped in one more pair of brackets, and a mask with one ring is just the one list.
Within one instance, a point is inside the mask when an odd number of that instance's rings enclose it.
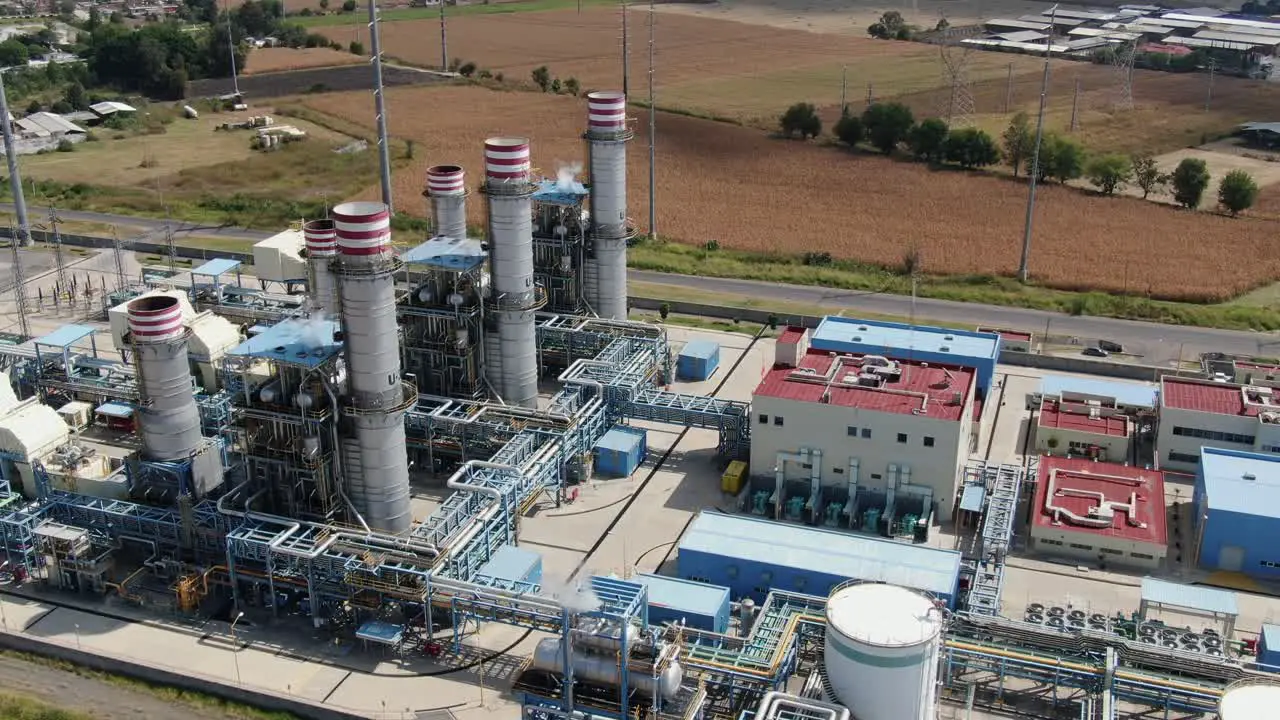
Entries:
{"label": "grey asphalt road running between the plant and the brown field", "polygon": [[[12,213],[13,205],[0,204],[0,211]],[[49,211],[44,208],[32,206],[31,213],[32,219],[35,219],[37,217],[46,217]],[[155,218],[136,218],[131,215],[84,213],[74,210],[59,210],[58,214],[65,220],[110,223],[141,228],[147,232],[163,232],[165,225],[165,220]],[[183,233],[198,232],[201,236],[219,236],[251,241],[262,240],[273,234],[270,232],[233,227],[196,229],[188,223],[175,223],[174,232],[179,236]],[[902,318],[911,314],[911,299],[901,295],[850,292],[823,287],[776,284],[756,281],[672,275],[667,273],[652,273],[648,270],[631,270],[628,277],[640,282],[664,283],[708,292],[740,295],[754,300],[826,305],[841,310],[849,310],[851,313],[863,311],[878,315],[897,315]],[[987,325],[1010,328],[1029,331],[1037,334],[1079,337],[1085,342],[1098,338],[1110,340],[1124,345],[1128,354],[1132,354],[1140,361],[1152,365],[1172,364],[1179,357],[1194,360],[1202,352],[1228,352],[1235,355],[1261,356],[1280,355],[1280,334],[1275,333],[1220,331],[1212,328],[1144,323],[1138,320],[1120,320],[1114,318],[1075,316],[1061,313],[1047,313],[1044,310],[1027,310],[1023,307],[977,305],[970,302],[931,299],[915,300],[915,316],[920,322],[933,320],[938,323],[966,324],[974,327]]]}

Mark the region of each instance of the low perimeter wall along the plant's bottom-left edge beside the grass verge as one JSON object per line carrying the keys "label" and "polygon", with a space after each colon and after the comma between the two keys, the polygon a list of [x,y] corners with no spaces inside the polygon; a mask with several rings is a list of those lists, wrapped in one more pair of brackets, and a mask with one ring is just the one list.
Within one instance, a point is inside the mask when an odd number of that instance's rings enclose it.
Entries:
{"label": "low perimeter wall along the plant's bottom-left edge beside the grass verge", "polygon": [[10,633],[8,630],[0,630],[0,647],[54,657],[102,673],[125,675],[156,685],[178,687],[206,693],[264,710],[292,712],[300,717],[314,720],[356,720],[365,717],[365,715],[312,703],[297,697],[278,696],[243,685],[227,685],[214,678],[192,674],[189,669],[178,671],[177,669],[152,667],[128,657],[84,652],[52,641]]}

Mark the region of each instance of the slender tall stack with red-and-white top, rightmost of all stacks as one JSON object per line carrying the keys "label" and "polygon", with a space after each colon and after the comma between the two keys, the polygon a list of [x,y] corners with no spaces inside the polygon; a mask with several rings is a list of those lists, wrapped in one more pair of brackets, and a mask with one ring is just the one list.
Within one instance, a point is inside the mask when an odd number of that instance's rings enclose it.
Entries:
{"label": "slender tall stack with red-and-white top, rightmost of all stacks", "polygon": [[[627,316],[627,96],[621,92],[586,95],[586,143],[591,173],[591,237],[595,256],[588,275],[595,292],[586,301],[611,320]],[[594,269],[594,273],[590,272]]]}

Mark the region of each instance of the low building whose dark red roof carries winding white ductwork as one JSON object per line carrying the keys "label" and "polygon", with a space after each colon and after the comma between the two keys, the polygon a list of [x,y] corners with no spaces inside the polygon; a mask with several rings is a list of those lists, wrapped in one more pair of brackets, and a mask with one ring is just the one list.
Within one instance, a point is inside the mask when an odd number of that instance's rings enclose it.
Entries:
{"label": "low building whose dark red roof carries winding white ductwork", "polygon": [[1169,550],[1160,470],[1041,457],[1032,547],[1088,562],[1158,569]]}

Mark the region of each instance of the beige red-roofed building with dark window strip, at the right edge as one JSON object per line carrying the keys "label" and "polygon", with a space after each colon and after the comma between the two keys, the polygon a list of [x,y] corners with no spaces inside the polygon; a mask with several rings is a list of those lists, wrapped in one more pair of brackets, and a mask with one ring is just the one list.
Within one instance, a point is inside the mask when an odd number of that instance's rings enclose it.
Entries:
{"label": "beige red-roofed building with dark window strip, at the right edge", "polygon": [[1194,474],[1202,447],[1280,452],[1280,389],[1226,382],[1161,380],[1156,460]]}

